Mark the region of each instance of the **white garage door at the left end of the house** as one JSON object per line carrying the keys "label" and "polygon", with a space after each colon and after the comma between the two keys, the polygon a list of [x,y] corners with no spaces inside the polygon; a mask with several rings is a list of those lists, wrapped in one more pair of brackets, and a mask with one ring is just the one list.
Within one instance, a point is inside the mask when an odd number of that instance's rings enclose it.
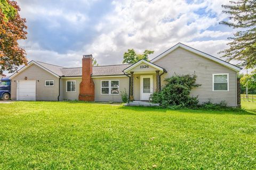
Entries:
{"label": "white garage door at the left end of the house", "polygon": [[36,100],[36,80],[19,80],[17,100]]}

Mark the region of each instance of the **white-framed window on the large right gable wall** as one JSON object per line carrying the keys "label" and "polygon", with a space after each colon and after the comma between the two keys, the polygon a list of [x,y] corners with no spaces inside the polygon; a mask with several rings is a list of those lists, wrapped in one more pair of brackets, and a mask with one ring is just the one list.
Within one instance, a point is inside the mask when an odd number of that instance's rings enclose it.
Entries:
{"label": "white-framed window on the large right gable wall", "polygon": [[212,91],[229,91],[229,74],[212,74]]}

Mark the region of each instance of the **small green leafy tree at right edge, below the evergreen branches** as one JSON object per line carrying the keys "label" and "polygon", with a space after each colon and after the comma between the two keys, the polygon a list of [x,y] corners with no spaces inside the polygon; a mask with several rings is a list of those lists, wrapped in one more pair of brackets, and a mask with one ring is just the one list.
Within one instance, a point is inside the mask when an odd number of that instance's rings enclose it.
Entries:
{"label": "small green leafy tree at right edge, below the evergreen branches", "polygon": [[244,87],[248,87],[251,90],[256,90],[256,70],[252,71],[251,74],[245,74],[240,79],[240,83]]}

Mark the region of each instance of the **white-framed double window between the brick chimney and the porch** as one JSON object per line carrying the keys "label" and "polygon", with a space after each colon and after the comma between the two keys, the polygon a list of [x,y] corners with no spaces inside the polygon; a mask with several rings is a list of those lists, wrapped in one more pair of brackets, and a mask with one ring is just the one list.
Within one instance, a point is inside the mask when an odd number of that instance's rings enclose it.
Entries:
{"label": "white-framed double window between the brick chimney and the porch", "polygon": [[119,94],[119,80],[101,80],[101,94]]}

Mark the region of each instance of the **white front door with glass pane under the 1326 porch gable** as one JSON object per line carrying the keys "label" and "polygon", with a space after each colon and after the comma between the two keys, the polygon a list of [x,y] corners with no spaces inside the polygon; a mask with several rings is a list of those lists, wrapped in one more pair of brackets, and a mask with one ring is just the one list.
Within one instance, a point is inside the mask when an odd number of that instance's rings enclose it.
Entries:
{"label": "white front door with glass pane under the 1326 porch gable", "polygon": [[140,76],[140,100],[149,100],[153,94],[153,76]]}

